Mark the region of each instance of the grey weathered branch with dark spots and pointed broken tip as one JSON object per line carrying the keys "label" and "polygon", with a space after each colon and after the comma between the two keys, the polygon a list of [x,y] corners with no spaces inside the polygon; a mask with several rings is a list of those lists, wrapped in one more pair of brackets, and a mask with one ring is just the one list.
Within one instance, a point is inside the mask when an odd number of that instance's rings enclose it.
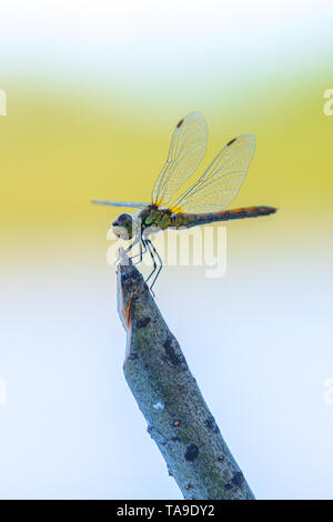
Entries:
{"label": "grey weathered branch with dark spots and pointed broken tip", "polygon": [[254,499],[142,275],[120,254],[124,375],[170,475],[184,499]]}

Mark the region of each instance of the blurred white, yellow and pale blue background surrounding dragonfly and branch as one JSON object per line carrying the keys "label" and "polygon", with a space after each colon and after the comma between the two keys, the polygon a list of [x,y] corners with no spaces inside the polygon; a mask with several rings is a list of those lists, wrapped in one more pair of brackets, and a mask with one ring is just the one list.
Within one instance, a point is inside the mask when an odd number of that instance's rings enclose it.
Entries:
{"label": "blurred white, yellow and pale blue background surrounding dragonfly and branch", "polygon": [[[174,124],[203,167],[258,147],[228,268],[165,268],[158,304],[258,499],[332,499],[330,1],[1,4],[0,496],[180,499],[122,373],[114,211],[149,201]],[[202,169],[199,173],[202,172]]]}

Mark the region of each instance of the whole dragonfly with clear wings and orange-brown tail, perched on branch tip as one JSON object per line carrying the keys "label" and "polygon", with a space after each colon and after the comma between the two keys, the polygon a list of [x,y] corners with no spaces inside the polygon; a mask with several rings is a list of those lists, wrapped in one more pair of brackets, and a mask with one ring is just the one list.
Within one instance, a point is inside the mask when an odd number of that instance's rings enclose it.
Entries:
{"label": "whole dragonfly with clear wings and orange-brown tail, perched on branch tip", "polygon": [[147,251],[150,253],[153,268],[145,282],[152,281],[151,291],[163,265],[151,234],[168,228],[189,229],[219,221],[258,218],[278,210],[265,205],[225,210],[236,197],[253,158],[255,135],[252,133],[229,141],[203,174],[184,189],[203,159],[206,142],[204,116],[191,112],[174,128],[168,159],[153,185],[150,203],[92,201],[95,204],[139,209],[135,215],[120,214],[112,223],[112,231],[120,239],[132,240],[127,252],[139,244],[139,262]]}

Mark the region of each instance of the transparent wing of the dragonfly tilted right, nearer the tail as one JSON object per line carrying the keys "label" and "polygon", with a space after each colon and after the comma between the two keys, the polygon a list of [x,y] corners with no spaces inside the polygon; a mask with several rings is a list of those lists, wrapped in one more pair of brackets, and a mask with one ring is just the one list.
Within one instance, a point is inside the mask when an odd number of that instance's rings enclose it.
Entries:
{"label": "transparent wing of the dragonfly tilted right, nearer the tail", "polygon": [[216,212],[238,194],[255,150],[255,135],[231,140],[199,181],[180,197],[172,209],[190,213]]}

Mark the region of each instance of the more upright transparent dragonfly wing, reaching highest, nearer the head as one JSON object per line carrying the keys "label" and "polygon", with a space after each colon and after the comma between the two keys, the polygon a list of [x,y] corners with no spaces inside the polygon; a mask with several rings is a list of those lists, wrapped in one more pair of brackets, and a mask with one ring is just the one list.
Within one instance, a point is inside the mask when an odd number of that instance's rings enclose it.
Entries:
{"label": "more upright transparent dragonfly wing, reaching highest, nearer the head", "polygon": [[152,191],[154,204],[168,207],[201,162],[206,140],[208,127],[201,112],[191,112],[179,121],[172,134],[168,160]]}

